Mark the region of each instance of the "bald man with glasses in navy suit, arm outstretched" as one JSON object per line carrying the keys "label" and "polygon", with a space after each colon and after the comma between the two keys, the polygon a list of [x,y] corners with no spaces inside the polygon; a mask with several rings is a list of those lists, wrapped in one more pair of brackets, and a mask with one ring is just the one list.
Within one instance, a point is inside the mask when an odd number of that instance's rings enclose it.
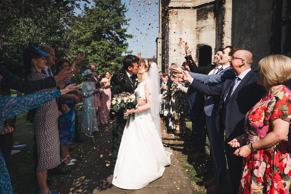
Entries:
{"label": "bald man with glasses in navy suit, arm outstretched", "polygon": [[[231,59],[230,69],[236,72],[234,79],[228,79],[217,85],[205,85],[193,79],[187,72],[185,81],[190,82],[190,87],[197,89],[207,96],[219,95],[219,107],[216,114],[216,127],[225,131],[225,152],[232,181],[233,193],[238,193],[241,179],[243,158],[233,154],[236,150],[228,145],[228,142],[244,133],[244,118],[248,112],[263,96],[266,90],[257,85],[256,73],[250,68],[253,55],[246,50],[236,51]],[[206,190],[206,193],[220,193],[219,185],[214,185]]]}

